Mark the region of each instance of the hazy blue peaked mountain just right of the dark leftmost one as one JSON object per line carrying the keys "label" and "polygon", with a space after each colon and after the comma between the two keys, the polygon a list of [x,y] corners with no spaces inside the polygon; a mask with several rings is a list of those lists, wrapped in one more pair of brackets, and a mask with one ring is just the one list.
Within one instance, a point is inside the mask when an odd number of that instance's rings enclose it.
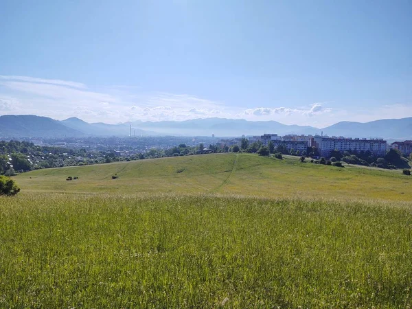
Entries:
{"label": "hazy blue peaked mountain just right of the dark leftmost one", "polygon": [[[102,122],[92,123],[89,124],[88,122],[84,122],[82,119],[78,119],[76,117],[71,117],[61,121],[62,124],[68,126],[69,128],[73,128],[76,130],[81,131],[86,135],[96,135],[96,136],[128,136],[130,133],[130,126],[126,124],[104,124]],[[139,128],[132,128],[132,135],[135,134],[140,135],[159,135],[155,132],[146,132],[145,130],[141,130]]]}

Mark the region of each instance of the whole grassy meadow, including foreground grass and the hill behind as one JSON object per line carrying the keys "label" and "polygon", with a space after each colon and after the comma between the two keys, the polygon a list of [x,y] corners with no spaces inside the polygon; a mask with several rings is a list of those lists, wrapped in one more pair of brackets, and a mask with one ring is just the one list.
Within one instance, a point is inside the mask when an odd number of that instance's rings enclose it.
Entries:
{"label": "whole grassy meadow, including foreground grass and the hill behind", "polygon": [[412,306],[400,172],[227,154],[15,179],[0,308]]}

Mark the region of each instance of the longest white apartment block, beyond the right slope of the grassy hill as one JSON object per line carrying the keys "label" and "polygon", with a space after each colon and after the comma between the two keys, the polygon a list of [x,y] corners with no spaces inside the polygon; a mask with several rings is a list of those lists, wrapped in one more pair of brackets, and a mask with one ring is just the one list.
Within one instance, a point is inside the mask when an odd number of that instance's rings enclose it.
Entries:
{"label": "longest white apartment block, beyond the right slope of the grassy hill", "polygon": [[387,141],[383,139],[352,139],[344,137],[315,136],[309,142],[309,146],[316,147],[322,157],[329,157],[332,150],[341,152],[347,150],[370,151],[376,156],[384,156],[387,152]]}

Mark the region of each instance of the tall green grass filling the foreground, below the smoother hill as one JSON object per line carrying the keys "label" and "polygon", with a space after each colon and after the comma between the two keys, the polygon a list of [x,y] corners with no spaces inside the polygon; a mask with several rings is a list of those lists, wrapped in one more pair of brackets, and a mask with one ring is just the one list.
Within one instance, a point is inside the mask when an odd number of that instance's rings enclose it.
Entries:
{"label": "tall green grass filling the foreground, below the smoother hill", "polygon": [[0,198],[0,307],[405,308],[412,214],[397,205]]}

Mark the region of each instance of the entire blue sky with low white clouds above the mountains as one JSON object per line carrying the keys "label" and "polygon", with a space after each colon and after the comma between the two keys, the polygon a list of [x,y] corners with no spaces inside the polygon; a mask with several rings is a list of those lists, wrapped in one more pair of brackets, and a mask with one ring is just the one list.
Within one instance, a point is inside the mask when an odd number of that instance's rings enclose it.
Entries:
{"label": "entire blue sky with low white clouds above the mountains", "polygon": [[0,1],[0,115],[412,117],[412,1]]}

